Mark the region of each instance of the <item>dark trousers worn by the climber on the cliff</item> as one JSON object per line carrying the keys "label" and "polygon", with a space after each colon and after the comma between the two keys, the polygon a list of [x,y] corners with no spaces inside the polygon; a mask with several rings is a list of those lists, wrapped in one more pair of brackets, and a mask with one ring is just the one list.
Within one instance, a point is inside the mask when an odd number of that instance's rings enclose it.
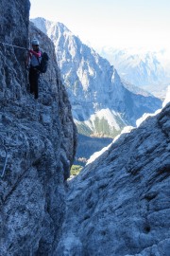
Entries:
{"label": "dark trousers worn by the climber on the cliff", "polygon": [[40,78],[40,72],[36,68],[30,67],[29,69],[30,93],[34,94],[35,99],[39,98],[39,78]]}

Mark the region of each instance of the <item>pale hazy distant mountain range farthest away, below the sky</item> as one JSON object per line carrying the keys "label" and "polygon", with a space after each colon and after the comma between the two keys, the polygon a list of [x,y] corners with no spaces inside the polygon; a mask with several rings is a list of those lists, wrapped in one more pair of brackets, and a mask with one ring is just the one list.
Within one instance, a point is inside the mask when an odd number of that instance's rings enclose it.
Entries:
{"label": "pale hazy distant mountain range farthest away, below the sky", "polygon": [[104,46],[98,52],[115,66],[123,80],[164,98],[170,84],[170,54],[167,49],[146,51]]}

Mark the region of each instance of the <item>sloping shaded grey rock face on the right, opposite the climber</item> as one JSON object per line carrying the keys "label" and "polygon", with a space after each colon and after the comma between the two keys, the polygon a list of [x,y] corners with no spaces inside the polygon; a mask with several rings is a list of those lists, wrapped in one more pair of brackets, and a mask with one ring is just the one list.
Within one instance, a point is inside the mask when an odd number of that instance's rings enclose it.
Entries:
{"label": "sloping shaded grey rock face on the right, opposite the climber", "polygon": [[168,256],[170,103],[70,183],[60,255]]}

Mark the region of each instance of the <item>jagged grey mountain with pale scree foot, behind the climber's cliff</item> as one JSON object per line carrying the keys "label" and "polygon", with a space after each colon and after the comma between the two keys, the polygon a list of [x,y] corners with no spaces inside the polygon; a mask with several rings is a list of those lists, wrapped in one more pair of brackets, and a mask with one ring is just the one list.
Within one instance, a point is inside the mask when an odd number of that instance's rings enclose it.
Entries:
{"label": "jagged grey mountain with pale scree foot, behind the climber's cliff", "polygon": [[32,22],[56,47],[57,60],[78,132],[85,136],[115,137],[135,125],[144,112],[154,112],[161,101],[127,89],[116,69],[84,44],[63,24],[43,18]]}

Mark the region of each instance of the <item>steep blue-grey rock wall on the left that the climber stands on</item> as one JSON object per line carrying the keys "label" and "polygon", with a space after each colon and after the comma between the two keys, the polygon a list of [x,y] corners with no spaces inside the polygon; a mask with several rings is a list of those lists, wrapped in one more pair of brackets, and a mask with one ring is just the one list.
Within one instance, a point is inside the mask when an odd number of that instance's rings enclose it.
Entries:
{"label": "steep blue-grey rock wall on the left that the climber stands on", "polygon": [[[1,42],[28,47],[29,1],[0,3]],[[76,151],[76,126],[60,82],[55,49],[30,25],[49,57],[40,97],[26,91],[26,52],[0,44],[0,255],[52,255],[65,212],[64,179]],[[7,168],[4,146],[7,148]]]}

